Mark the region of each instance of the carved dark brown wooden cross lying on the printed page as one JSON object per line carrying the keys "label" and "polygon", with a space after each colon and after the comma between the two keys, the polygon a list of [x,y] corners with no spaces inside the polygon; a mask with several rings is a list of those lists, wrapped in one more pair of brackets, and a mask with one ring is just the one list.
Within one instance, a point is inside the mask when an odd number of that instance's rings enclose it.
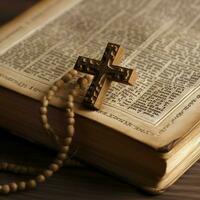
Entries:
{"label": "carved dark brown wooden cross lying on the printed page", "polygon": [[119,67],[124,49],[108,43],[101,61],[79,56],[74,69],[94,75],[83,103],[90,109],[99,109],[111,82],[133,85],[137,76],[133,69]]}

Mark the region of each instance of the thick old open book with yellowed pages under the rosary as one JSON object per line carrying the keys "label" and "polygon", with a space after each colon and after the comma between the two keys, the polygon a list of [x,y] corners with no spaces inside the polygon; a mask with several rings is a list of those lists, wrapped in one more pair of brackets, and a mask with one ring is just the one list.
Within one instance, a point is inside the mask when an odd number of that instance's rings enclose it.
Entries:
{"label": "thick old open book with yellowed pages under the rosary", "polygon": [[[200,157],[200,2],[42,1],[0,31],[0,126],[55,148],[40,99],[79,55],[99,60],[108,42],[125,48],[133,86],[112,83],[99,111],[76,99],[71,154],[152,193]],[[65,134],[69,85],[49,117]]]}

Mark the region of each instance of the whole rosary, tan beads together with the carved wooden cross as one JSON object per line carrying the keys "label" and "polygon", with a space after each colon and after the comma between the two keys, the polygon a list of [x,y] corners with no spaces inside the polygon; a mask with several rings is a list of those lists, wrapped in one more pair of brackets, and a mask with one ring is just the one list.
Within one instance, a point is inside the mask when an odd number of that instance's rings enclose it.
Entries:
{"label": "whole rosary, tan beads together with the carved wooden cross", "polygon": [[[2,171],[17,174],[37,174],[29,180],[0,185],[1,194],[34,189],[37,185],[44,183],[64,165],[64,162],[69,159],[68,152],[75,133],[74,99],[78,97],[81,90],[86,90],[90,84],[84,97],[83,105],[88,109],[98,110],[112,81],[129,85],[135,82],[137,77],[135,70],[118,66],[122,61],[123,54],[124,49],[119,45],[108,43],[101,61],[80,56],[74,69],[70,70],[50,87],[47,94],[42,98],[40,113],[41,121],[47,134],[59,145],[58,154],[55,160],[42,171],[37,171],[33,167],[7,162],[0,163],[0,169]],[[74,88],[66,96],[66,135],[64,138],[60,138],[49,123],[47,115],[48,105],[64,84],[77,77],[78,71],[87,73],[87,75],[78,78]]]}

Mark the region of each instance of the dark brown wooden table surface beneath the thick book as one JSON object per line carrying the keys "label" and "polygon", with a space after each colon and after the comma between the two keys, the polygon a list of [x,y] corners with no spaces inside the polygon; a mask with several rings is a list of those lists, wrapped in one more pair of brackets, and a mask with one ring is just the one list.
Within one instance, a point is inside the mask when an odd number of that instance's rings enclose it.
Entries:
{"label": "dark brown wooden table surface beneath the thick book", "polygon": [[[0,24],[12,19],[37,0],[2,0]],[[54,152],[11,136],[0,130],[0,160],[41,164],[48,161]],[[19,178],[12,174],[0,174],[1,183]],[[19,178],[20,179],[20,178]],[[1,200],[200,200],[200,161],[197,162],[168,191],[159,196],[148,196],[133,186],[103,174],[91,167],[63,168],[47,183],[34,191],[1,196]]]}

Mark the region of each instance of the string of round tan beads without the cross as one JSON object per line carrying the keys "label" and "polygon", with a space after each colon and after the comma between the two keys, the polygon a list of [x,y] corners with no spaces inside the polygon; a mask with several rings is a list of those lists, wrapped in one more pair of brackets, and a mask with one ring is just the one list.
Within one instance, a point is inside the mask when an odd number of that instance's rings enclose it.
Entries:
{"label": "string of round tan beads without the cross", "polygon": [[[85,89],[87,85],[91,81],[91,76],[86,75],[78,79],[75,87],[69,92],[66,98],[66,136],[64,138],[60,138],[53,131],[49,121],[48,121],[48,105],[55,94],[59,91],[59,89],[72,80],[77,75],[76,70],[71,70],[66,75],[62,77],[62,79],[58,80],[54,83],[54,85],[49,89],[47,95],[45,95],[42,99],[42,106],[40,108],[41,120],[43,127],[46,129],[47,133],[59,144],[59,151],[55,158],[55,160],[47,167],[45,170],[38,170],[34,167],[27,167],[23,165],[16,165],[12,163],[2,162],[0,163],[0,169],[2,171],[8,171],[19,174],[31,174],[35,175],[35,178],[19,181],[19,182],[11,182],[8,184],[0,185],[0,193],[8,194],[11,192],[24,191],[26,189],[34,189],[40,183],[44,183],[46,179],[51,177],[55,172],[57,172],[64,164],[64,162],[69,159],[68,152],[69,147],[72,142],[72,137],[75,132],[74,124],[75,124],[75,114],[73,111],[74,107],[74,97],[76,97],[81,89]],[[36,175],[37,174],[37,175]]]}

